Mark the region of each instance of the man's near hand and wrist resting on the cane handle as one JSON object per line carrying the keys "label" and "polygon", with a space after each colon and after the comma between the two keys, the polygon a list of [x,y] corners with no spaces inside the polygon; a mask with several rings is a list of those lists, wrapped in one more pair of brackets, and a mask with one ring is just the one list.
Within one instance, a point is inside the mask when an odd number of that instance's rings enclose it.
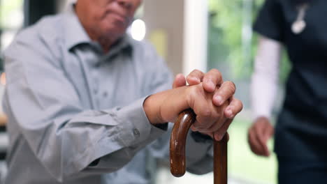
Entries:
{"label": "man's near hand and wrist resting on the cane handle", "polygon": [[213,104],[212,98],[219,89],[208,93],[203,88],[203,83],[193,86],[182,86],[168,91],[150,95],[143,103],[145,114],[150,123],[175,122],[180,112],[193,109],[196,130],[201,132],[215,132],[215,139],[221,140],[225,135],[229,121],[224,117],[227,104],[218,107]]}

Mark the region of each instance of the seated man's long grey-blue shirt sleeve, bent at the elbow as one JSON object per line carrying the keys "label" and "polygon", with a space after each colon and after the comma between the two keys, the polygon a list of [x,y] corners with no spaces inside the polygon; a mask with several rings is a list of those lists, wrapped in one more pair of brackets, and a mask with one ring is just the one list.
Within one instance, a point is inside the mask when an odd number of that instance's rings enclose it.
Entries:
{"label": "seated man's long grey-blue shirt sleeve, bent at the elbow", "polygon": [[[147,120],[145,98],[122,108],[84,109],[50,45],[20,36],[5,53],[5,111],[57,181],[117,171],[166,132]],[[106,167],[90,169],[99,158]]]}

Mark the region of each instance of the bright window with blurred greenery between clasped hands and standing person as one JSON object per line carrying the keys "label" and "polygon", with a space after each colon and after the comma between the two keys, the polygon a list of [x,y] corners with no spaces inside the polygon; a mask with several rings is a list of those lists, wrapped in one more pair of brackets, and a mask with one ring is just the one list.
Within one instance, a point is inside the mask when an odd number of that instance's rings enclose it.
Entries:
{"label": "bright window with blurred greenery between clasped hands and standing person", "polygon": [[[275,155],[259,158],[247,144],[247,129],[252,123],[249,84],[252,74],[256,35],[252,24],[263,0],[209,0],[208,68],[219,69],[224,79],[238,86],[236,97],[244,109],[228,129],[228,174],[238,183],[277,183]],[[273,140],[270,140],[270,150]],[[265,168],[265,169],[262,169]]]}

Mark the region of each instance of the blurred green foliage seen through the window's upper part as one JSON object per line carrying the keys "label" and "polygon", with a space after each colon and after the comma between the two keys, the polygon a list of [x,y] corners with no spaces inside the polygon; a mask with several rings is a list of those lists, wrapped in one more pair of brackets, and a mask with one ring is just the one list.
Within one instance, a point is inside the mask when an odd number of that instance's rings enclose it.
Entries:
{"label": "blurred green foliage seen through the window's upper part", "polygon": [[[244,3],[252,3],[252,22],[264,0],[210,0],[210,24],[208,39],[208,66],[218,68],[228,65],[230,77],[237,79],[249,77],[252,73],[254,56],[257,48],[257,36],[253,34],[249,58],[246,59],[242,50],[242,11]],[[248,54],[248,53],[247,53]],[[286,56],[282,60],[281,78],[285,79],[289,71]]]}

